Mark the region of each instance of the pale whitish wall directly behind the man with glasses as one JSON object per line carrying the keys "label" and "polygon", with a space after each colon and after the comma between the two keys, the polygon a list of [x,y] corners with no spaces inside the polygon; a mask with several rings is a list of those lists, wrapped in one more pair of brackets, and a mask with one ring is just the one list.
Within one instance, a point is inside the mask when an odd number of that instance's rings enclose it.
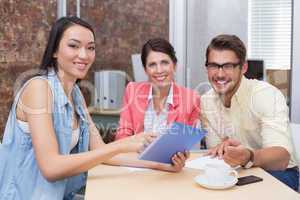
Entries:
{"label": "pale whitish wall directly behind the man with glasses", "polygon": [[222,33],[235,34],[247,45],[248,0],[187,1],[187,86],[207,82],[205,51]]}

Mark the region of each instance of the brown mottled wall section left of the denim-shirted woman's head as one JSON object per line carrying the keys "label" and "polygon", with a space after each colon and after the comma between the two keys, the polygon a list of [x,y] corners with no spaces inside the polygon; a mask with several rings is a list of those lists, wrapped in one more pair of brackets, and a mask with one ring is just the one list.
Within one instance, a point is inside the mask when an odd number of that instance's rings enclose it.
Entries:
{"label": "brown mottled wall section left of the denim-shirted woman's head", "polygon": [[20,74],[38,66],[51,24],[55,0],[0,0],[0,138]]}

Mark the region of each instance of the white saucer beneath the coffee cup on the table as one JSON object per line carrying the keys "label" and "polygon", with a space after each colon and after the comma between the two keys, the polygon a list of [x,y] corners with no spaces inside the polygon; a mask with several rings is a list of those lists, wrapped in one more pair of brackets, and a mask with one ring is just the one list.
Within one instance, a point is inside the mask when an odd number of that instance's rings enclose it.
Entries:
{"label": "white saucer beneath the coffee cup on the table", "polygon": [[204,174],[199,174],[194,178],[196,183],[201,185],[202,187],[208,188],[208,189],[214,189],[214,190],[221,190],[221,189],[227,189],[235,186],[237,183],[238,179],[235,176],[229,175],[227,177],[227,180],[225,182],[215,182],[214,184],[211,184],[207,181],[206,177]]}

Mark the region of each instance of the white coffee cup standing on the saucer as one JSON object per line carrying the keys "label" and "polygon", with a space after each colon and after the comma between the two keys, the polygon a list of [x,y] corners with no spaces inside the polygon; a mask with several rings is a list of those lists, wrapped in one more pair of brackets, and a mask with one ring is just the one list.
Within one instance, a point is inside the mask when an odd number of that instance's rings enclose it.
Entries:
{"label": "white coffee cup standing on the saucer", "polygon": [[237,171],[222,163],[208,163],[204,168],[203,178],[209,185],[224,185],[237,177]]}

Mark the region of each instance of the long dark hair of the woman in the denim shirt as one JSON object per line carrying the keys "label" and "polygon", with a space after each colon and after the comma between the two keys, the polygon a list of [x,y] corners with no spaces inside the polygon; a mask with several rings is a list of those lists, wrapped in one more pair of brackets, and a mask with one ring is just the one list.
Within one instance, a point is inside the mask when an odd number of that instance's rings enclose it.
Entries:
{"label": "long dark hair of the woman in the denim shirt", "polygon": [[85,22],[84,20],[71,16],[71,17],[62,17],[58,19],[52,26],[48,43],[44,51],[43,59],[39,67],[40,74],[48,74],[49,69],[54,69],[57,72],[57,61],[53,57],[54,53],[57,51],[59,43],[62,39],[64,32],[73,25],[80,25],[89,29],[95,38],[95,32],[92,26]]}

